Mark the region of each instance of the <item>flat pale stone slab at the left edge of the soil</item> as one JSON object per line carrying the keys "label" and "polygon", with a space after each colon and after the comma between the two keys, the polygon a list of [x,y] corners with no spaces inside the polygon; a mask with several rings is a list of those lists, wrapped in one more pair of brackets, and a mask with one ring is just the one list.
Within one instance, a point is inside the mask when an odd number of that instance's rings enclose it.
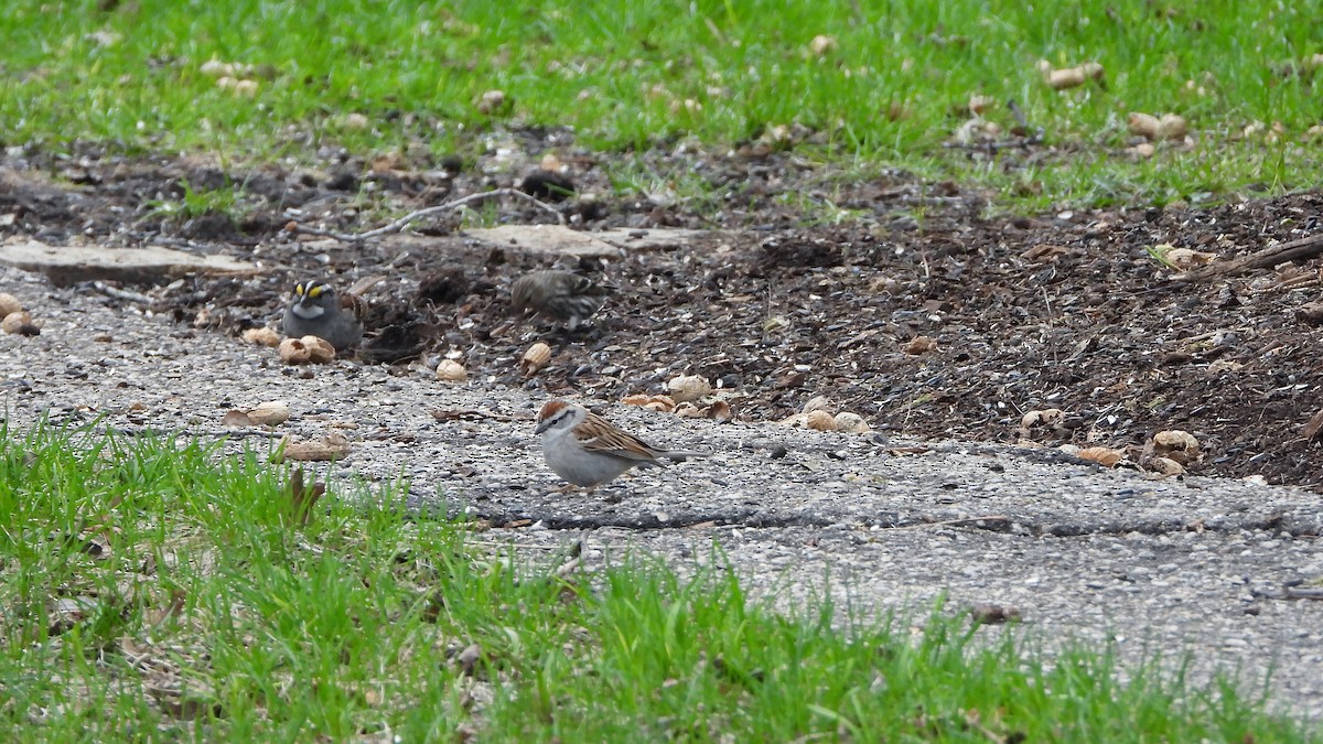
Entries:
{"label": "flat pale stone slab at the left edge of the soil", "polygon": [[155,283],[180,274],[250,274],[259,269],[226,256],[198,256],[161,246],[99,248],[20,242],[0,246],[0,263],[45,274],[56,286],[108,279]]}

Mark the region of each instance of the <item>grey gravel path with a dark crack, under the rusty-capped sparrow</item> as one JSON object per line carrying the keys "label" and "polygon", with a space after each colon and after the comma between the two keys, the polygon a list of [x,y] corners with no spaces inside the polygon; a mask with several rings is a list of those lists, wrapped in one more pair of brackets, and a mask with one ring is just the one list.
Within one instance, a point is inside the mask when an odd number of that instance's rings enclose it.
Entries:
{"label": "grey gravel path with a dark crack, under the rusty-capped sparrow", "polygon": [[19,425],[49,412],[213,436],[232,408],[286,400],[294,416],[282,430],[353,442],[329,478],[405,474],[419,506],[490,522],[484,540],[582,539],[587,567],[642,551],[684,569],[709,561],[716,543],[751,596],[785,608],[826,590],[865,616],[921,617],[945,593],[950,608],[1015,608],[1023,631],[1048,647],[1110,638],[1129,661],[1191,651],[1199,678],[1221,667],[1261,679],[1271,669],[1283,710],[1323,718],[1323,602],[1271,598],[1286,582],[1323,577],[1323,515],[1310,491],[1158,481],[1050,449],[606,405],[647,438],[714,454],[560,495],[531,432],[541,393],[353,361],[286,368],[273,349],[16,270],[0,271],[0,291],[44,323],[38,336],[0,336],[5,408]]}

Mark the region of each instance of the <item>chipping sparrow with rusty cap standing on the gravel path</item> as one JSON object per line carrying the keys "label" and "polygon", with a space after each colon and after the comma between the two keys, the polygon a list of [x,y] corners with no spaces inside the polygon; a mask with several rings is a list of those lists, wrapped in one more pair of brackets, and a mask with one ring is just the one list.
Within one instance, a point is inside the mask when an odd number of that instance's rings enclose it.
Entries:
{"label": "chipping sparrow with rusty cap standing on the gravel path", "polygon": [[546,465],[561,478],[589,490],[614,481],[635,465],[662,467],[662,458],[683,462],[706,457],[699,451],[659,450],[582,405],[562,400],[542,405],[536,433],[542,436]]}

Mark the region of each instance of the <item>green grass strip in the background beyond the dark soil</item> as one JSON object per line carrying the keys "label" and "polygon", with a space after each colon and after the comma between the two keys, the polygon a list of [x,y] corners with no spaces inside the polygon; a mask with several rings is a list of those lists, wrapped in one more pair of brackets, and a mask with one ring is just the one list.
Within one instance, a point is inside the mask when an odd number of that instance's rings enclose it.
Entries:
{"label": "green grass strip in the background beyond the dark soil", "polygon": [[[98,9],[110,7],[108,11]],[[569,126],[595,148],[775,127],[848,176],[878,164],[963,177],[1003,200],[1167,203],[1318,183],[1318,3],[175,3],[15,0],[0,15],[0,139],[127,151],[307,156],[472,152],[493,127]],[[811,50],[815,36],[835,45]],[[1036,64],[1097,61],[1105,85],[1048,87]],[[239,65],[218,85],[208,62]],[[504,106],[484,113],[484,91]],[[971,95],[1015,99],[1054,156],[943,147]],[[1127,158],[1131,111],[1177,113],[1195,144]],[[361,114],[355,120],[349,115]],[[1241,136],[1253,122],[1283,134]],[[366,126],[364,126],[364,123]],[[795,127],[799,127],[798,130]],[[311,135],[311,139],[310,139]],[[855,168],[860,167],[859,171]],[[669,177],[664,173],[663,177]]]}

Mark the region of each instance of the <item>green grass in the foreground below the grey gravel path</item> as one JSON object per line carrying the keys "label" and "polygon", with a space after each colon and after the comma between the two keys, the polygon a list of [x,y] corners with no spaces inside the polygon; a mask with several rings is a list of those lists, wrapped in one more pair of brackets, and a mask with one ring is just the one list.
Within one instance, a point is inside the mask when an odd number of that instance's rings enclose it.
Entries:
{"label": "green grass in the foreground below the grey gravel path", "polygon": [[1306,740],[1156,663],[1119,684],[1106,653],[1045,663],[962,617],[840,629],[722,571],[556,571],[401,490],[300,510],[288,478],[196,442],[4,432],[0,739]]}

